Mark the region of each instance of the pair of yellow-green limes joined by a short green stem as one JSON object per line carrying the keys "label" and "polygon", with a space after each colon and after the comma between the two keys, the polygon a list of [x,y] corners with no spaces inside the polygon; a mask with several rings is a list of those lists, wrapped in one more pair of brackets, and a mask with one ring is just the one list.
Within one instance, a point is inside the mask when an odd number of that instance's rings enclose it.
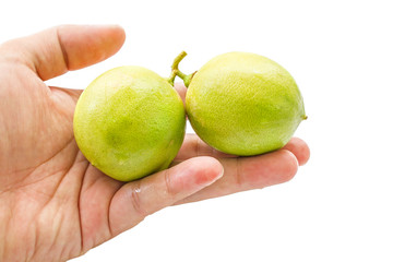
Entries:
{"label": "pair of yellow-green limes joined by a short green stem", "polygon": [[[171,85],[175,75],[189,85],[186,110]],[[229,52],[188,76],[176,67],[169,81],[141,67],[107,71],[81,95],[74,135],[92,165],[130,181],[170,165],[184,138],[186,111],[203,141],[241,156],[281,148],[306,119],[301,94],[283,67]]]}

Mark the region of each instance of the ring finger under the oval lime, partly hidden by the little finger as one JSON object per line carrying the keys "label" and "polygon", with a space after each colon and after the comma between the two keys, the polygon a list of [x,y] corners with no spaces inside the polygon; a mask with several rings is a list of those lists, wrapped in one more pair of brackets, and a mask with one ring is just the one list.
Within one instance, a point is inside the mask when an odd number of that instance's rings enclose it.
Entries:
{"label": "ring finger under the oval lime, partly hidden by the little finger", "polygon": [[221,158],[219,162],[224,166],[222,179],[176,204],[283,183],[290,180],[298,169],[296,156],[287,150],[252,157]]}

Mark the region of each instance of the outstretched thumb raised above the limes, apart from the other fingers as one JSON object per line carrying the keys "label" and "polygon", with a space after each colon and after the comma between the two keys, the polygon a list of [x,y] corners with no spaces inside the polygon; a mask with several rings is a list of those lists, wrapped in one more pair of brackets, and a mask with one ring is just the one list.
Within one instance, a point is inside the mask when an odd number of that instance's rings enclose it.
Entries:
{"label": "outstretched thumb raised above the limes, apart from the other fingers", "polygon": [[20,55],[45,81],[105,60],[124,39],[124,31],[116,25],[63,25],[8,41],[2,50]]}

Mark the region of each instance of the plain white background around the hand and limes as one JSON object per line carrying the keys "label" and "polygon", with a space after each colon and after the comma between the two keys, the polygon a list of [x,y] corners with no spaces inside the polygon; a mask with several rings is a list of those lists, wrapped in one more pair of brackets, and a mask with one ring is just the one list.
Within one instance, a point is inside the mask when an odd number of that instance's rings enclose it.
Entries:
{"label": "plain white background around the hand and limes", "polygon": [[0,41],[64,23],[124,27],[115,57],[52,85],[84,88],[124,64],[167,76],[181,50],[192,72],[241,50],[284,66],[305,98],[296,135],[311,158],[290,182],[163,210],[74,261],[393,261],[389,3],[2,1]]}

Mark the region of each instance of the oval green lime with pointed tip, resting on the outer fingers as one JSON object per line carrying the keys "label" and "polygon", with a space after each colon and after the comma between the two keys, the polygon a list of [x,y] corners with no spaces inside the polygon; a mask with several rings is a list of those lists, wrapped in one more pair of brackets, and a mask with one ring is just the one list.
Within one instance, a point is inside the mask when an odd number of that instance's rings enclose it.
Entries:
{"label": "oval green lime with pointed tip, resting on the outer fingers", "polygon": [[283,147],[307,119],[293,76],[248,52],[224,53],[204,64],[189,83],[186,109],[203,141],[246,156]]}

